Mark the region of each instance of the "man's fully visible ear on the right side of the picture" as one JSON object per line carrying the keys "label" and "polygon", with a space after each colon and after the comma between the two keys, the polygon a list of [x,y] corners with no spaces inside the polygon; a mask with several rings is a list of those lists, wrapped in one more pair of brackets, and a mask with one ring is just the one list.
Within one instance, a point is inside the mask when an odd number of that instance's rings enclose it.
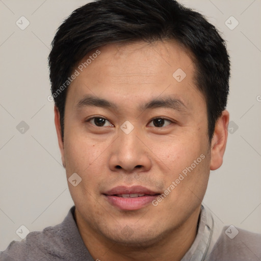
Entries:
{"label": "man's fully visible ear on the right side of the picture", "polygon": [[227,110],[224,110],[216,122],[214,136],[211,142],[211,170],[218,169],[223,163],[228,134],[228,122],[229,113]]}

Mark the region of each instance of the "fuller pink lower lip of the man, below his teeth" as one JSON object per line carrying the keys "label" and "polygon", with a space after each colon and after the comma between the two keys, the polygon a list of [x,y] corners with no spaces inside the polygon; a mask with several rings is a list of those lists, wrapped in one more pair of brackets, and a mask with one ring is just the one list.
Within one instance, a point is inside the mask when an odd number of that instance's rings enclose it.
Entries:
{"label": "fuller pink lower lip of the man, below his teeth", "polygon": [[107,200],[121,210],[139,210],[151,203],[158,195],[145,195],[136,198],[123,198],[114,195],[105,195]]}

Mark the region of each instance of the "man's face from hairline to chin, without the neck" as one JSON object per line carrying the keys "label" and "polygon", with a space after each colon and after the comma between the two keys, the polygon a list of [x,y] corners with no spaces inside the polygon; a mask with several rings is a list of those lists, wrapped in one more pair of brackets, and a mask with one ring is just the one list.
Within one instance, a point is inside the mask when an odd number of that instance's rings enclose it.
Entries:
{"label": "man's face from hairline to chin, without the neck", "polygon": [[82,178],[68,182],[77,220],[111,241],[157,241],[199,210],[211,169],[195,65],[173,41],[98,49],[74,68],[64,143],[56,121],[67,179]]}

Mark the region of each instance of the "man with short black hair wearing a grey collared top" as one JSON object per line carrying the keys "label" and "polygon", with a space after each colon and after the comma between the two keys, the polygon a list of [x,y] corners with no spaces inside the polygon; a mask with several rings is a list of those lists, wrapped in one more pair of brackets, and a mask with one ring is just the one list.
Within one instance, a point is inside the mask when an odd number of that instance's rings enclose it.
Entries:
{"label": "man with short black hair wearing a grey collared top", "polygon": [[60,26],[49,67],[75,206],[1,260],[260,260],[259,234],[201,205],[229,121],[212,24],[173,0],[99,0]]}

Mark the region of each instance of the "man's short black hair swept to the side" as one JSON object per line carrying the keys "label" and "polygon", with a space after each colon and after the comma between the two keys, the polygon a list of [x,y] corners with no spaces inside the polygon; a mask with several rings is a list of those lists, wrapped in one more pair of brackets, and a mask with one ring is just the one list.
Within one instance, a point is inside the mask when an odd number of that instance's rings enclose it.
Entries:
{"label": "man's short black hair swept to the side", "polygon": [[211,141],[229,92],[226,43],[203,15],[174,0],[97,0],[74,10],[61,24],[48,59],[62,139],[68,77],[91,50],[119,42],[153,43],[170,39],[190,50],[195,58],[195,79],[205,97]]}

